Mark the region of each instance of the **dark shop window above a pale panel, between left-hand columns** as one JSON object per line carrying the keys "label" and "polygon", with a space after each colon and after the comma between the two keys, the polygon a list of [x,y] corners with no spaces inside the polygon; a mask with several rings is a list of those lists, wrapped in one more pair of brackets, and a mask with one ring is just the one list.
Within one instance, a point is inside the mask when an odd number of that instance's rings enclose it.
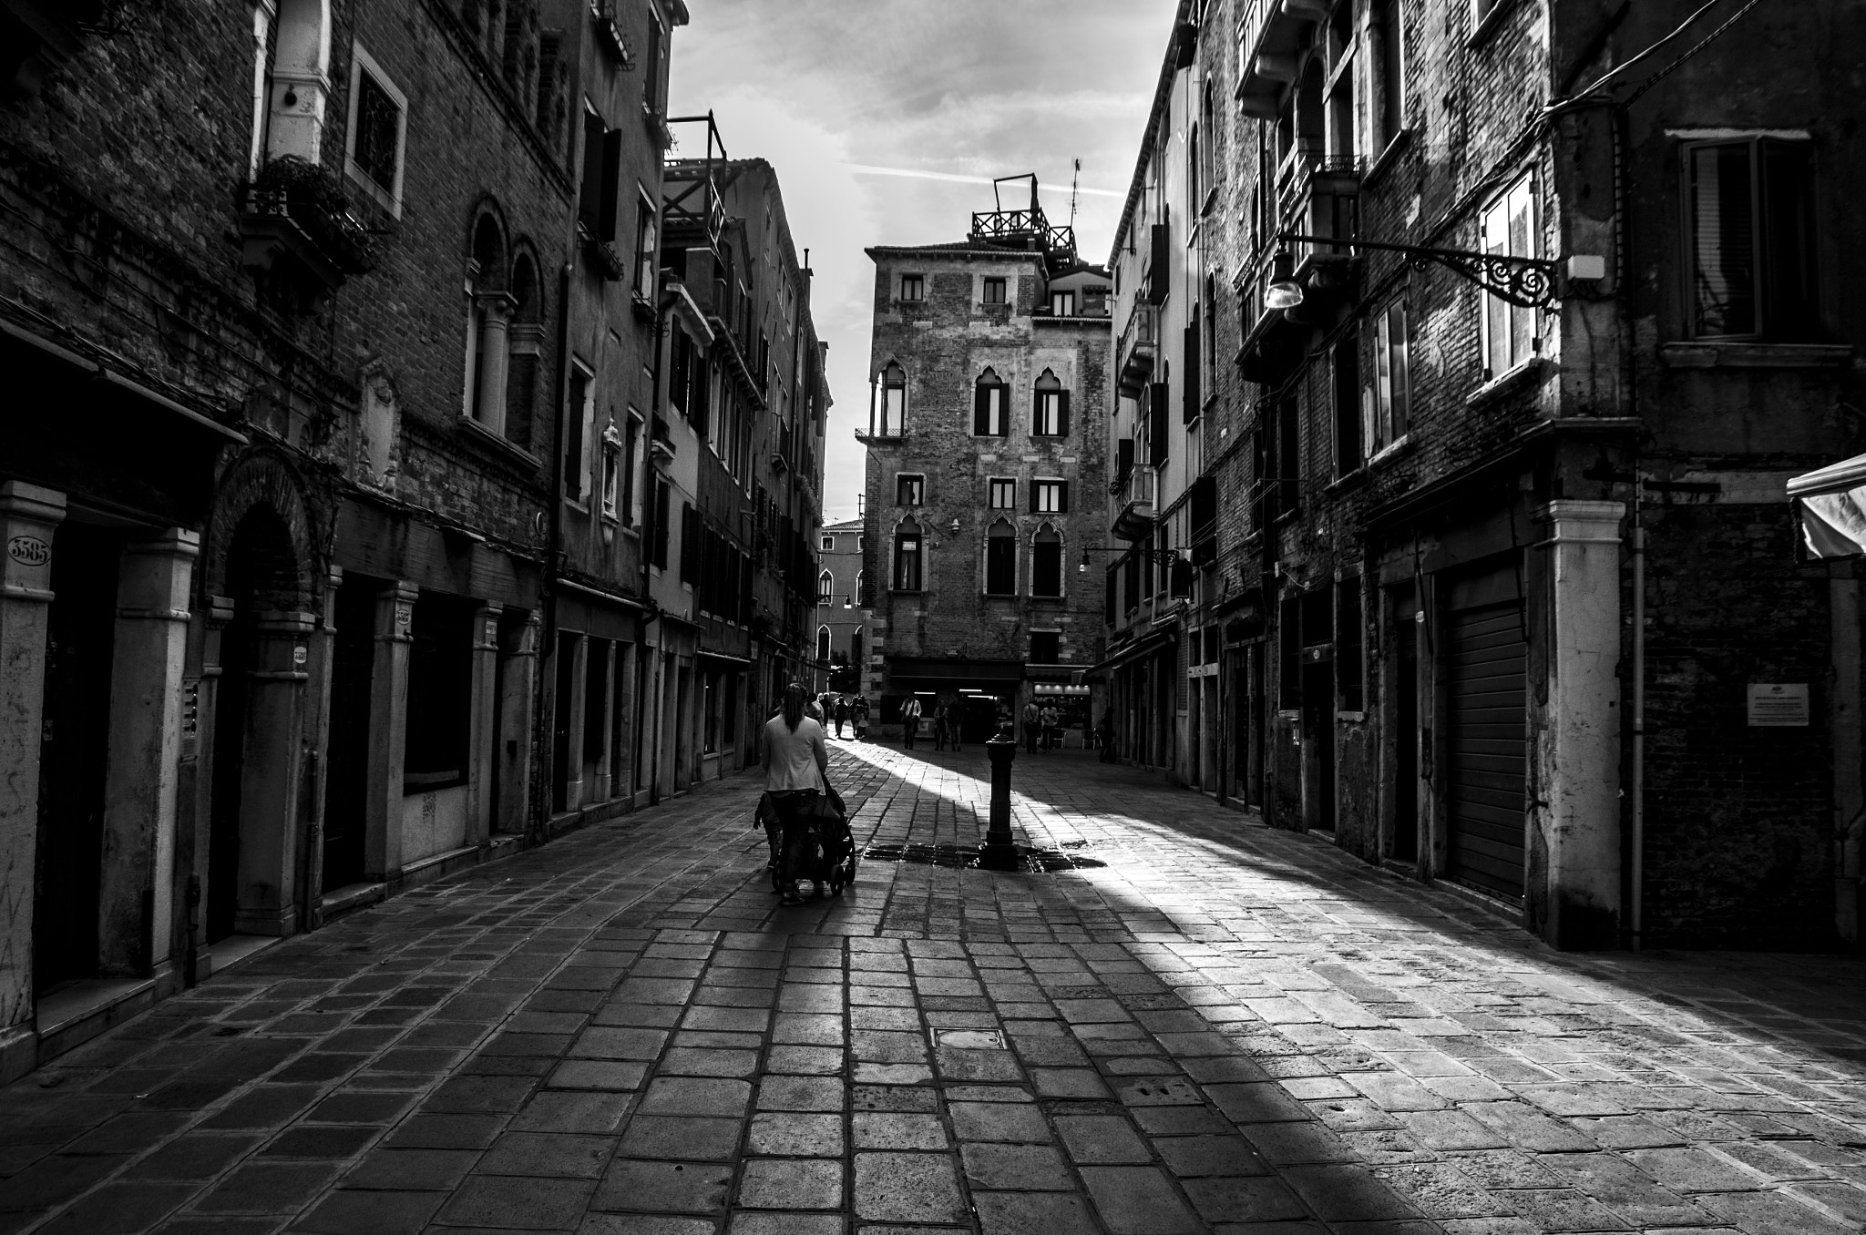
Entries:
{"label": "dark shop window above a pale panel, between left-hand columns", "polygon": [[470,601],[425,591],[414,603],[403,793],[466,784],[474,608]]}

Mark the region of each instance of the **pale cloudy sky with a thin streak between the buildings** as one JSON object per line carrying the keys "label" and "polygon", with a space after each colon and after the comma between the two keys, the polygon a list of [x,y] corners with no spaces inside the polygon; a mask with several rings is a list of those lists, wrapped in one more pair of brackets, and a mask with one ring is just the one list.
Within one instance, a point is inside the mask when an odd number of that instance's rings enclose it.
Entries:
{"label": "pale cloudy sky with a thin streak between the buildings", "polygon": [[[829,340],[825,522],[855,517],[868,425],[868,244],[965,239],[996,175],[1036,172],[1052,222],[1105,261],[1174,0],[689,0],[670,114],[711,108],[726,151],[778,170]],[[685,155],[689,151],[675,151]],[[899,175],[886,173],[931,173]],[[954,179],[944,179],[954,177]],[[799,254],[801,256],[801,254]]]}

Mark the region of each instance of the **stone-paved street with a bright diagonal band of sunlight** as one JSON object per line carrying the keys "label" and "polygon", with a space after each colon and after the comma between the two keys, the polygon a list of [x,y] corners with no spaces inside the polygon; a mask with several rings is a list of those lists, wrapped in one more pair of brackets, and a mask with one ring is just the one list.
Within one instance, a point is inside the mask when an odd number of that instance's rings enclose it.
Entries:
{"label": "stone-paved street with a bright diagonal band of sunlight", "polygon": [[[858,840],[989,769],[834,744]],[[0,1091],[0,1231],[1859,1231],[1838,957],[1545,950],[1092,754],[1060,869],[780,909],[758,780],[282,942]],[[1093,866],[1099,862],[1103,866]]]}

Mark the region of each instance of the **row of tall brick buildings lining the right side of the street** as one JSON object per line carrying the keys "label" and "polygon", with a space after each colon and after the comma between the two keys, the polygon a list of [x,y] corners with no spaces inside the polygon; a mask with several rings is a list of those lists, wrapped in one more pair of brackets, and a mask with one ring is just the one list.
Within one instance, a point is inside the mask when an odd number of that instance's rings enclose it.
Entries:
{"label": "row of tall brick buildings lining the right side of the street", "polygon": [[1608,9],[1179,6],[1118,313],[1215,545],[1127,754],[1566,948],[1855,940],[1859,582],[1786,483],[1866,444],[1866,22]]}

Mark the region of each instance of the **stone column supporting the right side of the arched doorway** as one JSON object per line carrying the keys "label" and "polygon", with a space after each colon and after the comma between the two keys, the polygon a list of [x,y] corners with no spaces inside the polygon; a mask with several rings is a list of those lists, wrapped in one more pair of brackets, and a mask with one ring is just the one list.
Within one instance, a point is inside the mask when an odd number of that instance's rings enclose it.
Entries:
{"label": "stone column supporting the right side of the arched doorway", "polygon": [[244,761],[239,782],[239,890],[233,929],[295,935],[304,784],[304,690],[317,616],[261,612],[246,672]]}

